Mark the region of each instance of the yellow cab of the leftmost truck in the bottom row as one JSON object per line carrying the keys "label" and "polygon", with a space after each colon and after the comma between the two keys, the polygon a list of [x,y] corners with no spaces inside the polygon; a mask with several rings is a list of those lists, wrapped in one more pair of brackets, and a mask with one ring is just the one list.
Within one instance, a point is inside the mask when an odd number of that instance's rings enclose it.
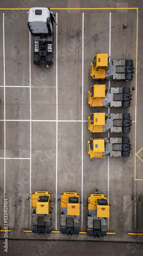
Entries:
{"label": "yellow cab of the leftmost truck in the bottom row", "polygon": [[51,193],[46,191],[38,191],[31,196],[31,211],[36,207],[37,214],[49,215],[51,209]]}

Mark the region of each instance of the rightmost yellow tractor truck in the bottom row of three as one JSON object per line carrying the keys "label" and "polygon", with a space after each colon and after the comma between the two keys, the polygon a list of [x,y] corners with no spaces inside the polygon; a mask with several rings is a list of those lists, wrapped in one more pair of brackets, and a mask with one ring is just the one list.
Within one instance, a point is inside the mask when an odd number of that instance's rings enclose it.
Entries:
{"label": "rightmost yellow tractor truck in the bottom row of three", "polygon": [[88,195],[87,236],[107,236],[106,223],[109,218],[109,203],[100,191]]}

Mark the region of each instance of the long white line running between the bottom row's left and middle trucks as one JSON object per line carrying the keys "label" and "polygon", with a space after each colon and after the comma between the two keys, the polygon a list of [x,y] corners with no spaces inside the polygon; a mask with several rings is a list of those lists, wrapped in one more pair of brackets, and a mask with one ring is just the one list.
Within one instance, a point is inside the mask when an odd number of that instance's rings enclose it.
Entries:
{"label": "long white line running between the bottom row's left and middle trucks", "polygon": [[[58,24],[58,13],[56,13]],[[56,26],[56,230],[57,230],[57,186],[58,181],[58,25]]]}

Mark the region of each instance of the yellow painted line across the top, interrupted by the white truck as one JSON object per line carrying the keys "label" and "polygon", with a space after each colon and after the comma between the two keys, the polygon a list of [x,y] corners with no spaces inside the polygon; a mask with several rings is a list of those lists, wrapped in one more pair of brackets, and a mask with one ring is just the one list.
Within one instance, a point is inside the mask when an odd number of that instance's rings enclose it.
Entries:
{"label": "yellow painted line across the top, interrupted by the white truck", "polygon": [[[136,10],[135,8],[50,8],[51,10]],[[0,10],[30,10],[30,8],[0,8]]]}

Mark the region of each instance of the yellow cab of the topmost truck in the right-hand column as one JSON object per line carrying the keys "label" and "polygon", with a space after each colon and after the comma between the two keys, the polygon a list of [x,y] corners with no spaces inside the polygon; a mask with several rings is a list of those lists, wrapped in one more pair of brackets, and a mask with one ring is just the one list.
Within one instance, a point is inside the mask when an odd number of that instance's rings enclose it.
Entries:
{"label": "yellow cab of the topmost truck in the right-hand column", "polygon": [[90,76],[92,79],[105,79],[105,71],[108,69],[108,54],[96,54],[90,65]]}

